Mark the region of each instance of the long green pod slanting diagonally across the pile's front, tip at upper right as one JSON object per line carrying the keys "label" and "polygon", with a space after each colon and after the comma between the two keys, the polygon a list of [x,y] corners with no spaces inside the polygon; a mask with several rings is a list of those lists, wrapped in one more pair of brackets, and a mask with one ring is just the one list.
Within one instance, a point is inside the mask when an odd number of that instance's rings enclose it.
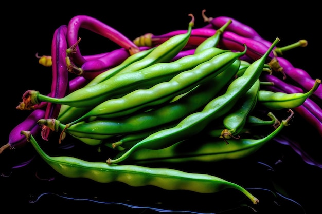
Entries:
{"label": "long green pod slanting diagonally across the pile's front, tip at upper right", "polygon": [[106,160],[106,163],[112,164],[126,160],[131,153],[140,148],[165,148],[202,131],[210,121],[227,113],[235,105],[240,96],[245,94],[254,85],[263,70],[267,56],[279,41],[279,38],[276,38],[272,46],[260,59],[249,65],[242,76],[230,83],[224,94],[210,101],[202,111],[188,115],[173,128],[164,129],[149,135],[124,152],[120,157],[116,159],[109,158]]}

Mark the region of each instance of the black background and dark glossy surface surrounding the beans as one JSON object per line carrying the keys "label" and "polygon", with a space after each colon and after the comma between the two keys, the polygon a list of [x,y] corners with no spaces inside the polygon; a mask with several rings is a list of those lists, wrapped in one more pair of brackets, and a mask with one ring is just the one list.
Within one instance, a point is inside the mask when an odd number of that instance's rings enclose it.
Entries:
{"label": "black background and dark glossy surface surrounding the beans", "polygon": [[[9,3],[6,13],[2,13],[2,134],[1,145],[6,144],[11,129],[20,123],[28,112],[16,110],[22,94],[28,89],[50,91],[51,69],[38,64],[35,53],[50,55],[53,32],[60,25],[67,25],[75,15],[90,15],[117,29],[130,39],[151,32],[155,35],[164,34],[172,30],[187,29],[190,21],[189,13],[195,17],[195,27],[202,27],[205,23],[201,11],[206,9],[208,16],[230,16],[240,22],[253,27],[268,41],[276,37],[281,39],[278,46],[288,45],[300,39],[306,39],[308,46],[297,48],[284,53],[295,67],[308,71],[313,78],[321,78],[321,45],[320,45],[320,17],[317,5],[287,5],[281,6],[272,2],[264,4],[240,3],[179,3],[174,6],[167,2],[80,2],[51,3],[44,5]],[[25,3],[24,3],[25,4]],[[108,52],[117,46],[106,38],[94,34],[93,40],[83,40],[82,54]],[[301,146],[321,161],[321,137],[305,120],[297,117],[294,124],[284,133],[296,139]],[[82,145],[78,145],[82,147]],[[84,146],[85,147],[85,146]],[[86,152],[94,148],[86,148]],[[84,151],[84,150],[82,150]],[[34,160],[25,167],[10,167],[16,163]],[[268,170],[259,162],[271,166],[277,160],[284,162],[274,167],[275,171]],[[213,213],[254,213],[248,207],[249,201],[244,199],[245,207],[240,207],[242,198],[235,191],[201,195],[181,191],[168,192],[155,187],[129,187],[124,184],[97,184],[83,179],[66,179],[53,172],[49,166],[35,155],[32,147],[24,149],[6,150],[0,157],[2,173],[11,171],[9,177],[0,177],[2,186],[0,191],[2,207],[18,210],[65,210],[66,205],[73,210],[82,210],[84,207],[97,211],[103,209],[109,213],[157,213],[151,209],[135,209],[117,204],[98,204],[84,200],[63,199],[53,194],[47,194],[36,203],[28,200],[38,197],[45,192],[57,193],[70,198],[96,199],[104,202],[121,202],[130,205],[159,207],[174,210],[189,210],[196,212]],[[172,167],[177,167],[173,165]],[[187,170],[209,172],[223,179],[234,181],[247,188],[263,188],[270,191],[279,190],[279,193],[291,200],[278,197],[266,190],[251,190],[260,204],[254,207],[258,213],[315,213],[320,209],[321,200],[321,170],[316,166],[305,163],[300,156],[289,146],[270,142],[256,154],[240,161],[224,161],[221,163],[189,163]],[[37,176],[40,177],[37,178]],[[41,178],[55,177],[48,181]],[[292,201],[294,200],[294,201]],[[158,204],[158,203],[161,204]],[[276,202],[276,203],[275,203]],[[300,205],[298,205],[299,203]],[[238,208],[236,208],[238,207]],[[98,209],[97,209],[98,208]],[[235,209],[236,208],[236,209]],[[229,210],[231,209],[231,210]],[[114,211],[112,211],[114,210]],[[229,211],[228,211],[229,210]],[[291,211],[292,210],[292,211]]]}

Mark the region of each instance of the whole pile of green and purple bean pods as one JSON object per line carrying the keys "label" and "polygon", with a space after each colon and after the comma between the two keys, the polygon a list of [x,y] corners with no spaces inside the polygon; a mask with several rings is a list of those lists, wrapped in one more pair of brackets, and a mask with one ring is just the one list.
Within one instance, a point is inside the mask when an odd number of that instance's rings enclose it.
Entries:
{"label": "whole pile of green and purple bean pods", "polygon": [[[51,56],[37,56],[52,67],[51,92],[22,94],[16,108],[30,114],[0,153],[31,143],[69,178],[201,193],[235,188],[257,204],[245,188],[215,175],[149,164],[246,157],[276,138],[294,114],[322,137],[321,81],[282,57],[306,40],[278,47],[278,37],[266,41],[234,18],[204,12],[203,27],[195,28],[189,14],[187,29],[137,38],[90,16],[71,18],[55,30]],[[82,55],[81,28],[119,49]],[[47,141],[95,146],[106,160],[49,155],[41,146]]]}

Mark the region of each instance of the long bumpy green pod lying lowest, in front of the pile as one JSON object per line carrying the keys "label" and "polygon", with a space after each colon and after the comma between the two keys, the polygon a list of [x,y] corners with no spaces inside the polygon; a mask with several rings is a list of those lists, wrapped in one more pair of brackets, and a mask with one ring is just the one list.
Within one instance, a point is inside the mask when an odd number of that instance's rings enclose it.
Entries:
{"label": "long bumpy green pod lying lowest, in front of the pile", "polygon": [[30,131],[21,133],[50,167],[67,178],[86,178],[99,183],[122,182],[134,187],[152,185],[166,190],[199,193],[216,193],[233,188],[242,192],[254,204],[259,203],[259,200],[242,186],[210,174],[137,165],[108,165],[104,162],[90,162],[68,156],[52,157],[41,149]]}

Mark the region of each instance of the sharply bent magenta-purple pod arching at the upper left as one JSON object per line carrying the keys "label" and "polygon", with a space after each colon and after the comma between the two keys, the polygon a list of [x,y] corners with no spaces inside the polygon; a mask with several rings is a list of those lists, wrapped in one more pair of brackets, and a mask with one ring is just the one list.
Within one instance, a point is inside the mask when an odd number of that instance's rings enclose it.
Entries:
{"label": "sharply bent magenta-purple pod arching at the upper left", "polygon": [[120,47],[129,51],[131,55],[139,51],[138,47],[129,38],[124,36],[116,29],[102,23],[94,17],[87,15],[77,15],[71,18],[68,23],[67,43],[69,46],[77,44],[75,47],[77,51],[73,53],[73,61],[79,66],[86,62],[84,57],[81,55],[78,47],[78,32],[80,28],[90,30],[101,36],[109,38]]}

